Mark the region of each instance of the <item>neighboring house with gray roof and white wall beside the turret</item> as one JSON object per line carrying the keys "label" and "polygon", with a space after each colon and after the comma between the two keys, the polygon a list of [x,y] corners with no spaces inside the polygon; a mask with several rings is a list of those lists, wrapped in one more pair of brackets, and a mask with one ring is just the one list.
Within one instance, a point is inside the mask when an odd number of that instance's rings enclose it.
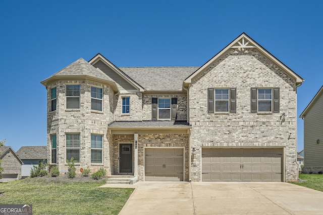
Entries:
{"label": "neighboring house with gray roof and white wall beside the turret", "polygon": [[47,162],[47,146],[22,146],[17,155],[24,163],[21,167],[21,177],[28,177],[31,168],[34,165],[38,166],[39,161]]}

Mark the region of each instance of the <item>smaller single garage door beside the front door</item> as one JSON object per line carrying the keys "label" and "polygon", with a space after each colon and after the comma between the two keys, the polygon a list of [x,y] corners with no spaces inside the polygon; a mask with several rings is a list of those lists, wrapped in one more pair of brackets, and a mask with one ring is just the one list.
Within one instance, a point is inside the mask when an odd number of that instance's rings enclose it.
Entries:
{"label": "smaller single garage door beside the front door", "polygon": [[183,149],[145,149],[145,181],[183,181]]}

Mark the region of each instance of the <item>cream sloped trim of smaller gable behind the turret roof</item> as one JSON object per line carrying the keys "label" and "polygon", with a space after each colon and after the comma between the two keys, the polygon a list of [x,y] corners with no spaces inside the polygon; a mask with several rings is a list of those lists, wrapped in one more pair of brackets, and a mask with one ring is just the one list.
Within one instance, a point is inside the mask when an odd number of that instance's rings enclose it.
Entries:
{"label": "cream sloped trim of smaller gable behind the turret roof", "polygon": [[119,74],[121,77],[123,77],[128,83],[130,83],[131,85],[133,85],[133,87],[137,88],[140,92],[144,92],[145,89],[143,87],[141,87],[141,85],[139,83],[137,83],[136,81],[134,81],[131,77],[129,77],[126,73],[124,73],[121,69],[119,69],[116,65],[114,65],[113,63],[111,63],[111,61],[107,60],[103,55],[101,55],[100,53],[96,54],[91,60],[89,60],[88,62],[91,65],[94,65],[96,62],[98,61],[102,61],[104,64],[106,64],[107,66],[109,66],[111,69],[113,69],[117,74]]}

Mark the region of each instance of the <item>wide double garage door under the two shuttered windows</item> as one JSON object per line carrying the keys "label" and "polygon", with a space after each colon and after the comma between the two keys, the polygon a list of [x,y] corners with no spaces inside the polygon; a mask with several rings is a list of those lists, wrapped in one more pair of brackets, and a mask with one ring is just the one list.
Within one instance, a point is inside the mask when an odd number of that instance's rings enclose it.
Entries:
{"label": "wide double garage door under the two shuttered windows", "polygon": [[282,181],[281,148],[202,149],[202,181]]}

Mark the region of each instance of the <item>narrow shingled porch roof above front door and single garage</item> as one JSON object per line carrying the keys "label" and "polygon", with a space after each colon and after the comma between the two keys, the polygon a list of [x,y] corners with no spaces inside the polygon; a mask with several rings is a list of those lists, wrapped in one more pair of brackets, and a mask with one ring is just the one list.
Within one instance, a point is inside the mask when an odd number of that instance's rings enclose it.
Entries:
{"label": "narrow shingled porch roof above front door and single garage", "polygon": [[190,128],[186,121],[116,121],[109,128]]}

